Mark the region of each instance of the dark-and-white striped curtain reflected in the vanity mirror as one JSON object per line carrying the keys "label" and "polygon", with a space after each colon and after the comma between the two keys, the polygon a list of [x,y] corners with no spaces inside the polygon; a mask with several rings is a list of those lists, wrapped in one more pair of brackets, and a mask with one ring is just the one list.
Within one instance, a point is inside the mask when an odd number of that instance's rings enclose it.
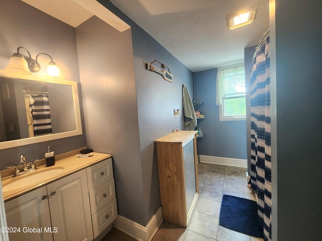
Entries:
{"label": "dark-and-white striped curtain reflected in the vanity mirror", "polygon": [[51,134],[52,129],[48,95],[33,95],[33,99],[35,100],[35,102],[32,104],[31,109],[34,122],[35,137]]}

